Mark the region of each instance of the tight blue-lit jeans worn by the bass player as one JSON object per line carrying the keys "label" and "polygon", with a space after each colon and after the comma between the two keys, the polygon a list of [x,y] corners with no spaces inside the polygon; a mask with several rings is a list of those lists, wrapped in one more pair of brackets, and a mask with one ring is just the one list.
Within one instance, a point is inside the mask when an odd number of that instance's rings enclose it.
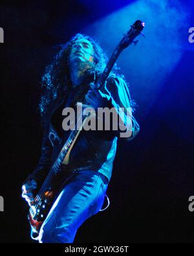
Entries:
{"label": "tight blue-lit jeans worn by the bass player", "polygon": [[107,191],[103,174],[81,170],[65,185],[39,233],[39,242],[72,243],[81,224],[100,211]]}

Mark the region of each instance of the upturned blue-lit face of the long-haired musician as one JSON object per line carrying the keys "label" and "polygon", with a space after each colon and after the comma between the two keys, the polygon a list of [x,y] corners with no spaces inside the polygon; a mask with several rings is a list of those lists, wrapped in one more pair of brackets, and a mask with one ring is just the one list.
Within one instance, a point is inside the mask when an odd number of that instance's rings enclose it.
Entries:
{"label": "upturned blue-lit face of the long-haired musician", "polygon": [[85,63],[94,62],[93,58],[94,49],[92,43],[83,38],[74,41],[72,45],[72,49],[70,51],[69,61],[70,64],[78,64],[78,63]]}

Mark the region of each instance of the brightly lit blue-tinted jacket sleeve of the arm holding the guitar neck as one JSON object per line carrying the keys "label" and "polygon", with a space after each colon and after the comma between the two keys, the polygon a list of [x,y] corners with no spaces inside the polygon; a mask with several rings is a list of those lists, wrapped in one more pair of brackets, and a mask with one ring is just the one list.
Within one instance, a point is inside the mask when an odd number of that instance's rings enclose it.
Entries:
{"label": "brightly lit blue-tinted jacket sleeve of the arm holding the guitar neck", "polygon": [[113,129],[112,132],[116,137],[133,139],[138,134],[140,126],[133,116],[127,84],[119,76],[110,75],[104,92],[109,99],[109,108],[114,108],[118,114],[118,129]]}

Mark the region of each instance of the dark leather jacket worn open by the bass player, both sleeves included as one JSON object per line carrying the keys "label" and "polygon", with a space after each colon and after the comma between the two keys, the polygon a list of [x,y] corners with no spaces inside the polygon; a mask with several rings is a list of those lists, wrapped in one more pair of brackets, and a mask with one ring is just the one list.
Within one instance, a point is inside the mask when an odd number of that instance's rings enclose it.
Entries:
{"label": "dark leather jacket worn open by the bass player, both sleeves included", "polygon": [[[76,96],[77,89],[70,89],[67,93],[65,102],[52,114],[51,121],[48,124],[48,129],[45,130],[42,141],[41,157],[38,166],[30,174],[27,180],[34,178],[41,185],[45,180],[48,170],[56,160],[56,157],[61,150],[61,147],[67,139],[67,132],[62,129],[63,116],[62,110],[65,106],[69,106],[72,99]],[[130,96],[127,86],[122,78],[109,76],[106,86],[102,91],[103,95],[109,99],[109,107],[130,107]],[[132,119],[131,136],[126,139],[133,139],[139,131],[139,126]],[[111,147],[116,147],[115,137],[119,137],[120,131],[85,131],[82,130],[75,145],[70,152],[70,161],[68,168],[70,170],[94,170],[102,172],[109,181],[111,178],[113,160],[116,148],[105,169],[101,168],[103,163],[107,161],[107,156]]]}

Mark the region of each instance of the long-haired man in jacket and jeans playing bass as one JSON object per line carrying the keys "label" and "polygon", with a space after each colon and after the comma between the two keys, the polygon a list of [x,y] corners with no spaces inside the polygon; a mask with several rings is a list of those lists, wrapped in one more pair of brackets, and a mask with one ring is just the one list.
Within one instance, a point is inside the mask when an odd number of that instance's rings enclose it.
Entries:
{"label": "long-haired man in jacket and jeans playing bass", "polygon": [[[29,205],[34,202],[34,190],[41,187],[67,139],[61,127],[64,108],[75,107],[84,96],[95,110],[130,107],[129,91],[120,76],[112,73],[102,91],[95,87],[106,62],[105,54],[92,38],[76,34],[47,67],[40,102],[44,127],[41,157],[38,167],[23,183],[23,198]],[[124,117],[120,119],[124,121]],[[133,139],[139,130],[134,117],[127,129],[131,129],[131,137],[127,139]],[[39,242],[73,242],[78,227],[100,211],[111,179],[118,137],[118,131],[113,129],[81,131],[67,166],[73,176],[41,226]]]}

